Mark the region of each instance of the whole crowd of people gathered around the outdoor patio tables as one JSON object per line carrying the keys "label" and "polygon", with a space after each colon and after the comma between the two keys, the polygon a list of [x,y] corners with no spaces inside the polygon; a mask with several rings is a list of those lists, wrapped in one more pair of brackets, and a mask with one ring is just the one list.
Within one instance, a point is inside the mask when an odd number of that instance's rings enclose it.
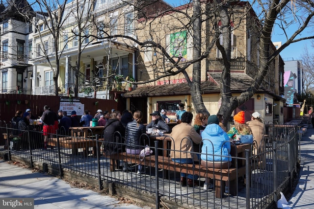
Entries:
{"label": "whole crowd of people gathered around the outdoor patio tables", "polygon": [[[262,153],[265,149],[265,143],[262,140],[264,134],[264,124],[261,115],[254,112],[251,115],[251,121],[245,122],[245,112],[240,111],[233,116],[234,125],[229,131],[223,125],[221,115],[211,115],[198,113],[194,118],[193,114],[184,110],[184,105],[179,104],[179,111],[176,113],[178,118],[177,125],[172,130],[166,123],[166,111],[154,111],[150,114],[152,120],[146,126],[143,124],[143,114],[141,111],[125,110],[122,114],[114,109],[111,113],[108,111],[97,110],[95,116],[92,116],[89,110],[84,111],[80,118],[76,111],[72,111],[71,116],[67,112],[58,111],[54,113],[48,105],[44,106],[44,112],[40,119],[43,122],[44,148],[47,148],[49,136],[59,130],[62,134],[69,133],[70,127],[90,126],[94,119],[98,121],[99,126],[104,126],[103,139],[105,155],[110,156],[123,151],[127,154],[139,155],[141,152],[141,135],[148,133],[150,129],[157,130],[158,133],[169,133],[173,139],[171,143],[170,159],[176,163],[194,163],[200,162],[205,167],[228,168],[231,166],[231,143],[230,140],[236,140],[241,135],[253,135],[256,141],[253,146],[253,154]],[[29,130],[32,124],[31,110],[26,112],[18,110],[12,118],[19,130]],[[162,136],[161,135],[161,136]],[[126,144],[122,146],[121,144]],[[193,154],[193,153],[199,154]],[[262,155],[261,155],[262,156]],[[265,156],[259,157],[259,166],[265,166]],[[116,161],[119,166],[119,161]],[[128,164],[124,163],[123,170],[128,171]],[[138,173],[142,173],[142,166],[138,165]],[[182,186],[199,186],[197,175],[181,173]],[[209,179],[206,179],[204,189],[210,189],[213,185]],[[228,185],[225,190],[228,191]]]}

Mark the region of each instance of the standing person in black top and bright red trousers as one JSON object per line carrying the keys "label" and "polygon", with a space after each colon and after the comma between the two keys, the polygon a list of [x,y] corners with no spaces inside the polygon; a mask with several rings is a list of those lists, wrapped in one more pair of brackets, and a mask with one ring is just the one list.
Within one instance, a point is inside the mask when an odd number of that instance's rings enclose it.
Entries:
{"label": "standing person in black top and bright red trousers", "polygon": [[41,116],[43,121],[44,149],[47,149],[47,142],[52,134],[55,134],[55,121],[58,121],[57,115],[51,111],[48,105],[44,106],[44,112]]}

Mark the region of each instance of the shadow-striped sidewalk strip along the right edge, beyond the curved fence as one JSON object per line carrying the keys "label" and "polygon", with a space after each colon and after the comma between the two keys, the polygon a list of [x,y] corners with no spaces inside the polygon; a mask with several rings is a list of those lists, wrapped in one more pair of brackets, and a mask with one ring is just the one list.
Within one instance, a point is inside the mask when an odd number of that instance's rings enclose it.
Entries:
{"label": "shadow-striped sidewalk strip along the right edge, beyond the curved fence", "polygon": [[314,209],[314,129],[308,128],[301,139],[300,179],[288,206],[291,209]]}

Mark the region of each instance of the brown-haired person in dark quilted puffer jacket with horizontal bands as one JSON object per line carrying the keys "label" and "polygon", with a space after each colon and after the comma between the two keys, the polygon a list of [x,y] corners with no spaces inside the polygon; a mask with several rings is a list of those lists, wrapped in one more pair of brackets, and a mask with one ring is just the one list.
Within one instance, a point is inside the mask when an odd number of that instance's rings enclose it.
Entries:
{"label": "brown-haired person in dark quilted puffer jacket with horizontal bands", "polygon": [[[126,152],[127,154],[139,155],[141,152],[141,142],[140,137],[142,134],[146,133],[145,126],[142,122],[142,112],[135,111],[133,114],[133,121],[129,122],[126,127]],[[127,164],[124,164],[123,170],[127,169]],[[138,165],[137,173],[141,174],[142,166]]]}

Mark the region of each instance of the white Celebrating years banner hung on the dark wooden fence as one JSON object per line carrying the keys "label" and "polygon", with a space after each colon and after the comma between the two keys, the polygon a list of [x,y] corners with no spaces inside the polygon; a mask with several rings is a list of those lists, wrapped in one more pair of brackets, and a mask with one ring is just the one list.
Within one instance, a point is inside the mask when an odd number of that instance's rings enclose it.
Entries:
{"label": "white Celebrating years banner hung on the dark wooden fence", "polygon": [[78,116],[84,114],[84,104],[80,103],[79,98],[60,98],[60,110],[66,111],[71,116],[72,111],[76,111]]}

